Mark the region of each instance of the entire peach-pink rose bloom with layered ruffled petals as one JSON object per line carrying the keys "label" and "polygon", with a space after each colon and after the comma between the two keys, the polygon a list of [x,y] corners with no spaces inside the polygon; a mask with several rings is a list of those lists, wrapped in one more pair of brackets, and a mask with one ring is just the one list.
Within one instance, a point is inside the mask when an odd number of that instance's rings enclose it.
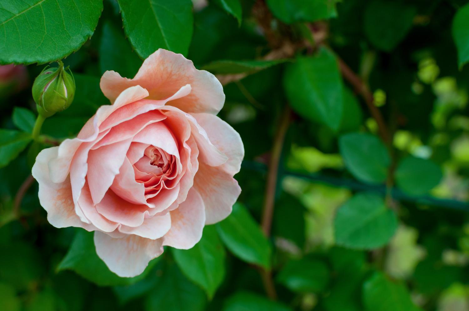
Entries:
{"label": "entire peach-pink rose bloom with layered ruffled petals", "polygon": [[189,249],[231,213],[244,148],[216,116],[220,82],[181,54],[159,49],[133,79],[107,71],[100,86],[112,105],[42,150],[32,174],[48,221],[95,231],[98,256],[131,277],[164,245]]}

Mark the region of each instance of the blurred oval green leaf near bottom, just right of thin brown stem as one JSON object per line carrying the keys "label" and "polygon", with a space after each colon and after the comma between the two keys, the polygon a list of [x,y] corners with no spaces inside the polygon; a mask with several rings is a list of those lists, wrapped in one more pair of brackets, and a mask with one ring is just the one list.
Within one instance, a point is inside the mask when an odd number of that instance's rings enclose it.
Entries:
{"label": "blurred oval green leaf near bottom, just right of thin brown stem", "polygon": [[320,292],[329,281],[329,269],[318,259],[292,259],[280,270],[277,281],[295,292]]}

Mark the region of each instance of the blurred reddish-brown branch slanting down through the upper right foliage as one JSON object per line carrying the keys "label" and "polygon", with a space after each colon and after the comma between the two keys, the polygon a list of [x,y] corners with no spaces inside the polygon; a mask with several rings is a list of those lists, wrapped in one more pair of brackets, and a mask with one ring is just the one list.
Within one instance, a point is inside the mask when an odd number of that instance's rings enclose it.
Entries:
{"label": "blurred reddish-brown branch slanting down through the upper right foliage", "polygon": [[373,102],[373,94],[371,94],[370,89],[368,89],[368,86],[366,86],[362,79],[360,79],[360,77],[354,73],[353,70],[348,67],[348,65],[340,57],[337,57],[337,60],[339,62],[340,72],[342,73],[343,77],[353,86],[356,93],[363,97],[365,104],[370,111],[371,117],[373,117],[378,124],[379,135],[383,141],[389,145],[391,143],[391,136],[387,130],[383,115]]}

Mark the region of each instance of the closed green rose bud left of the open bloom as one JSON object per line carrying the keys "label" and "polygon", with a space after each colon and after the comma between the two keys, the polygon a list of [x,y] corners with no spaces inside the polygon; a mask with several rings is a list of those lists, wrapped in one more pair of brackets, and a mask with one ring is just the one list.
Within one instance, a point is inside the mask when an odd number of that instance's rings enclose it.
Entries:
{"label": "closed green rose bud left of the open bloom", "polygon": [[67,69],[59,61],[59,67],[45,67],[34,80],[32,97],[41,116],[50,117],[72,104],[75,95],[75,79],[70,70],[68,70],[69,73],[66,72]]}

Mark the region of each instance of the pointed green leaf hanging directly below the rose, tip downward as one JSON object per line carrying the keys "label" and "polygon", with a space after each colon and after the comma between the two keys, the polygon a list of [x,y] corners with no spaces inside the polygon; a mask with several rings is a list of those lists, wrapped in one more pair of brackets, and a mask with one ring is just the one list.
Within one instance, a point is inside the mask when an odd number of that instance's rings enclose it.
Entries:
{"label": "pointed green leaf hanging directly below the rose, tip downward", "polygon": [[191,249],[172,251],[181,271],[212,298],[225,276],[226,257],[215,226],[205,226],[202,238]]}

